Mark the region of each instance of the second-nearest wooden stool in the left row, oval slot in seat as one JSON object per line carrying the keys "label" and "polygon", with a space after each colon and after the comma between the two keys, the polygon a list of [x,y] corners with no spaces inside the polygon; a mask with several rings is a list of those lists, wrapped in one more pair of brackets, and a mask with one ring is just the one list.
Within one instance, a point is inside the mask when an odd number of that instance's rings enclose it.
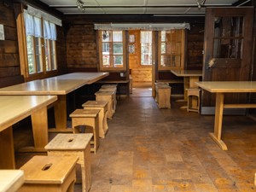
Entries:
{"label": "second-nearest wooden stool in the left row, oval slot in seat", "polygon": [[82,182],[82,191],[87,192],[91,186],[90,175],[90,139],[91,133],[59,133],[46,146],[49,156],[79,157],[77,182]]}

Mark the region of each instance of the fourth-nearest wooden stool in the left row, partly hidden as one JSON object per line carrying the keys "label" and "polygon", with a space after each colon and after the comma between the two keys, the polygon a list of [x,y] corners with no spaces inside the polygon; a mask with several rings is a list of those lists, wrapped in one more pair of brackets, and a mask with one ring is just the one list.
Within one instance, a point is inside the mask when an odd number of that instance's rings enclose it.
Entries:
{"label": "fourth-nearest wooden stool in the left row, partly hidden", "polygon": [[104,138],[108,131],[107,113],[108,102],[105,101],[88,101],[82,105],[84,109],[100,109],[99,113],[99,137]]}

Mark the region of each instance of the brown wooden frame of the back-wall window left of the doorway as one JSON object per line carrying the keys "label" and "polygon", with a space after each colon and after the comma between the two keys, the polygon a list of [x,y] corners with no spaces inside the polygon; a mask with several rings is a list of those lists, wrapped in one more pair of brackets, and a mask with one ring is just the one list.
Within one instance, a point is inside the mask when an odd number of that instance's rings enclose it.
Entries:
{"label": "brown wooden frame of the back-wall window left of the doorway", "polygon": [[[103,54],[102,54],[102,43],[111,43],[113,44],[113,41],[109,42],[103,42],[102,41],[102,31],[111,31],[111,32],[122,32],[122,44],[123,44],[123,67],[103,67]],[[124,30],[99,30],[97,31],[98,35],[98,49],[99,49],[99,71],[101,72],[122,72],[126,70],[126,36]],[[111,54],[109,54],[111,55]],[[113,54],[112,54],[113,55]]]}

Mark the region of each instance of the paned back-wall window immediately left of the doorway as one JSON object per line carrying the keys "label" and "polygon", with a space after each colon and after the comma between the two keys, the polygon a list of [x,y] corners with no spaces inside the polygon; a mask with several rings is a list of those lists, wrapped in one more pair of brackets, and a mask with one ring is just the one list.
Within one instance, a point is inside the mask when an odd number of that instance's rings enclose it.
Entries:
{"label": "paned back-wall window immediately left of the doorway", "polygon": [[100,69],[125,70],[125,32],[99,31]]}

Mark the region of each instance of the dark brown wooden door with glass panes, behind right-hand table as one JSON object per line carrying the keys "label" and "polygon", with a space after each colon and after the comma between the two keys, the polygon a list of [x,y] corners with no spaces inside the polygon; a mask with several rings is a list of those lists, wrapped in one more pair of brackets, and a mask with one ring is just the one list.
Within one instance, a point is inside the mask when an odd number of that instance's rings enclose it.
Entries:
{"label": "dark brown wooden door with glass panes, behind right-hand table", "polygon": [[[207,8],[203,81],[250,80],[253,8]],[[226,103],[246,102],[246,94],[227,94]],[[215,95],[203,90],[201,107],[214,106]]]}

